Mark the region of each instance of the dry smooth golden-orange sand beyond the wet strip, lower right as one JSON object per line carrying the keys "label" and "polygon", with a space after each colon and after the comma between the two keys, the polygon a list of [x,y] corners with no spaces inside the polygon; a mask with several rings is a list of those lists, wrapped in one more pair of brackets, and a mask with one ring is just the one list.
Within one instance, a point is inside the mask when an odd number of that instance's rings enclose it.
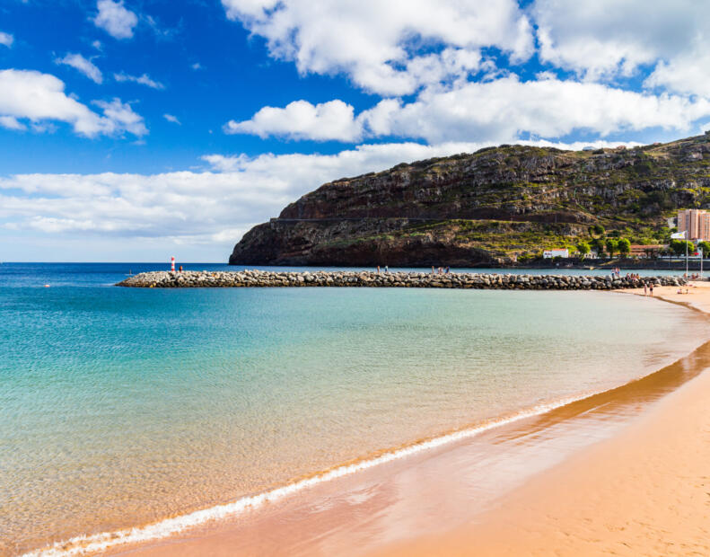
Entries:
{"label": "dry smooth golden-orange sand beyond the wet strip, lower right", "polygon": [[[636,292],[642,294],[643,292]],[[710,285],[655,296],[710,313]],[[710,554],[710,375],[514,491],[476,524],[376,555]]]}

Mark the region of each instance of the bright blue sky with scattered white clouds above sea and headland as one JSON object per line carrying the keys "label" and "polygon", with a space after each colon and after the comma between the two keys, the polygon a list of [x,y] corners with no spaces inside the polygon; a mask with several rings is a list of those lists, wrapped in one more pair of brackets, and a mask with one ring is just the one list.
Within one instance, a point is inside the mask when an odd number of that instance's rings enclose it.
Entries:
{"label": "bright blue sky with scattered white clouds above sea and headland", "polygon": [[227,261],[320,184],[710,128],[697,0],[0,0],[0,261]]}

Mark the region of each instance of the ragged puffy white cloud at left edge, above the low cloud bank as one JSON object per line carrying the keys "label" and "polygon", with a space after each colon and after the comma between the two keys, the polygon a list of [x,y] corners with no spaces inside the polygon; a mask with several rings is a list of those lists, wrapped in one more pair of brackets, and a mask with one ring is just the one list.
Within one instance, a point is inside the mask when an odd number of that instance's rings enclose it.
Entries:
{"label": "ragged puffy white cloud at left edge, above the low cloud bank", "polygon": [[[41,131],[49,120],[66,122],[82,136],[137,136],[147,133],[143,118],[118,99],[94,102],[103,110],[100,116],[85,104],[64,93],[64,83],[54,75],[27,70],[0,71],[0,117],[13,126],[19,119],[28,119],[32,128]],[[7,126],[5,126],[7,127]],[[14,126],[14,128],[17,128]]]}

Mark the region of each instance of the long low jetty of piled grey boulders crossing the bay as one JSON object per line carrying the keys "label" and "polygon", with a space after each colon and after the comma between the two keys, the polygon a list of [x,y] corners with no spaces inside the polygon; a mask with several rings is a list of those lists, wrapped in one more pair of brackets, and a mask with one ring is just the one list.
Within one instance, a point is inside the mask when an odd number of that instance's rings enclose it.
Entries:
{"label": "long low jetty of piled grey boulders crossing the bay", "polygon": [[655,286],[678,287],[679,277],[643,277],[632,279],[610,275],[513,275],[451,272],[374,271],[156,271],[140,273],[118,283],[119,287],[194,288],[194,287],[403,287],[403,288],[489,288],[520,290],[613,290]]}

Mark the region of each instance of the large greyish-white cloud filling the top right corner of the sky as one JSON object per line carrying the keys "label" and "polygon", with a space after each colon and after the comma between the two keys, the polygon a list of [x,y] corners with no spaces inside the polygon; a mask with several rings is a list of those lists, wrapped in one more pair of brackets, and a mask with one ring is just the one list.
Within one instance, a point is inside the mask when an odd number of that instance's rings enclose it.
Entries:
{"label": "large greyish-white cloud filling the top right corner of the sky", "polygon": [[[651,84],[676,84],[692,58],[710,48],[710,4],[696,0],[536,0],[530,13],[538,25],[539,56],[587,79],[633,75],[662,61]],[[702,74],[706,74],[703,67]],[[668,80],[663,77],[668,76]],[[693,92],[708,88],[702,82]],[[689,86],[674,88],[689,91]]]}

